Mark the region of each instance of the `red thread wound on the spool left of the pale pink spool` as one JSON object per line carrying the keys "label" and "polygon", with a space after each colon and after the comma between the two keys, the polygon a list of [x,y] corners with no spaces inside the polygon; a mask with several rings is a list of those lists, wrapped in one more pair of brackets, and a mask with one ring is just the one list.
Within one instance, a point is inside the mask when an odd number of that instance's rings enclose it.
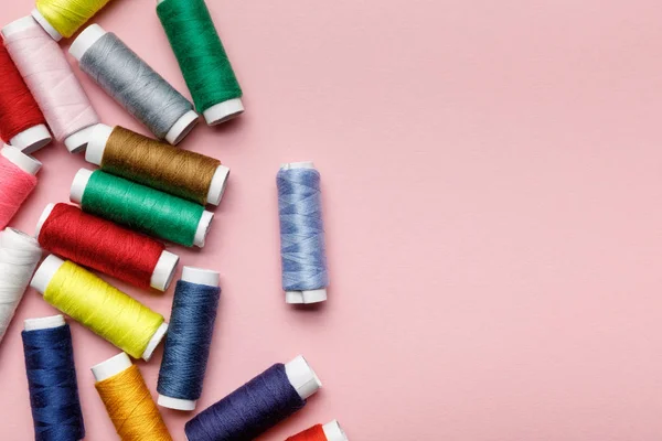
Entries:
{"label": "red thread wound on the spool left of the pale pink spool", "polygon": [[45,125],[46,119],[9,56],[7,47],[2,44],[0,44],[0,78],[2,78],[0,82],[0,138],[9,143],[17,135],[32,127]]}

